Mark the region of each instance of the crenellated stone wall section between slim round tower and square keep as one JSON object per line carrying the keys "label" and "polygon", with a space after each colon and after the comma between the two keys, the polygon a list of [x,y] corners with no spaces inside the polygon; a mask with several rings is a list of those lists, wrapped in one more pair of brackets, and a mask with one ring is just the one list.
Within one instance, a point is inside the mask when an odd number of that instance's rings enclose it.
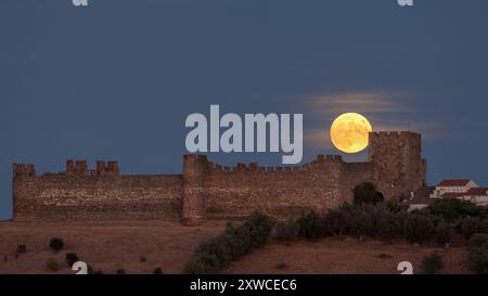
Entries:
{"label": "crenellated stone wall section between slim round tower and square keep", "polygon": [[255,210],[291,216],[342,204],[342,159],[319,158],[300,167],[221,167],[209,163],[205,188],[208,217],[240,217]]}

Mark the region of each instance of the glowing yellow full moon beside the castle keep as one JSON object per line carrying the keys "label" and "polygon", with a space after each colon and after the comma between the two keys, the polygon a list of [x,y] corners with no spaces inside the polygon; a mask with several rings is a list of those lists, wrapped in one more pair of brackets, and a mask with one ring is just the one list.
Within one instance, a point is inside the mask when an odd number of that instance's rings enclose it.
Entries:
{"label": "glowing yellow full moon beside the castle keep", "polygon": [[358,113],[345,113],[332,123],[331,140],[342,152],[357,153],[368,146],[371,131],[373,129],[364,116]]}

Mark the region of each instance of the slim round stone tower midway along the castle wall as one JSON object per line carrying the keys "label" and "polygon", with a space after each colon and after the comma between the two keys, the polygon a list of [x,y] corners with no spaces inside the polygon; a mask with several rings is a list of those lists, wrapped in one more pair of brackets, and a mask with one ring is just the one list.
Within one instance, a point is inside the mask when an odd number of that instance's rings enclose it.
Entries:
{"label": "slim round stone tower midway along the castle wall", "polygon": [[183,156],[183,223],[197,226],[206,219],[205,178],[208,173],[206,155]]}

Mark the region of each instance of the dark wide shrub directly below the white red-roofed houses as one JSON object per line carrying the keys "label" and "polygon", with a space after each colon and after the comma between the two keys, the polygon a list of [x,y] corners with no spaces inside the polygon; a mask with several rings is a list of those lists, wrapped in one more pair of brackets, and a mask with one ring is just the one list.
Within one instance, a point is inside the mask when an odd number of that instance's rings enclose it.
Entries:
{"label": "dark wide shrub directly below the white red-roofed houses", "polygon": [[427,209],[435,216],[453,222],[464,216],[478,216],[479,213],[475,204],[459,198],[439,198],[432,203]]}

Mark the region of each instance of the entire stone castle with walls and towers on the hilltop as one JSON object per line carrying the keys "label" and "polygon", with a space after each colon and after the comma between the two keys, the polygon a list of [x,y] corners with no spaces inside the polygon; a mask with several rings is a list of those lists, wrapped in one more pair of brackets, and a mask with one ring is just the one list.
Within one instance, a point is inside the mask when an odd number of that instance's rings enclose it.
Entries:
{"label": "entire stone castle with walls and towers on the hilltop", "polygon": [[352,189],[376,184],[385,200],[410,196],[426,183],[421,134],[370,133],[369,162],[319,155],[296,167],[237,164],[222,167],[205,155],[184,155],[181,175],[120,175],[117,162],[67,160],[66,170],[36,176],[34,165],[13,165],[13,219],[111,220],[242,217],[260,210],[277,217],[325,210],[352,202]]}

